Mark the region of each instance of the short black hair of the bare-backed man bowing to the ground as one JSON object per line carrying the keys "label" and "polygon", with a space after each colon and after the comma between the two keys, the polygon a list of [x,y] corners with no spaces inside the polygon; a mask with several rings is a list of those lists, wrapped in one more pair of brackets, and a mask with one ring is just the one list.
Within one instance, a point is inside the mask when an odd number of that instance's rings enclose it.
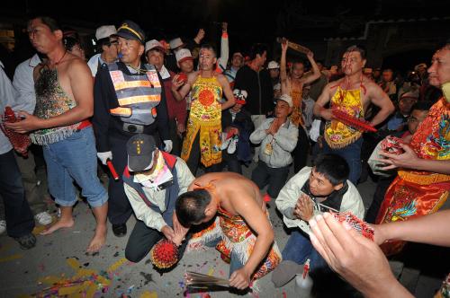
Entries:
{"label": "short black hair of the bare-backed man bowing to the ground", "polygon": [[200,223],[206,215],[204,210],[211,202],[211,195],[206,189],[195,189],[180,195],[175,202],[178,221],[185,227]]}

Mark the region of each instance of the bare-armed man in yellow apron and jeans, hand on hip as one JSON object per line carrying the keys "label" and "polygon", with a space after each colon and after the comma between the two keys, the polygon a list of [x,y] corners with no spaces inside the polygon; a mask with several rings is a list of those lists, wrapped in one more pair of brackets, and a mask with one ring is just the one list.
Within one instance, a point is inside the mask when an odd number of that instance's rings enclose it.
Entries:
{"label": "bare-armed man in yellow apron and jeans, hand on hip", "polygon": [[[365,62],[363,48],[357,46],[347,48],[341,62],[345,76],[328,83],[314,104],[314,115],[327,120],[323,153],[336,153],[342,156],[350,166],[348,180],[355,185],[362,168],[362,133],[333,118],[331,108],[336,107],[352,117],[364,119],[365,111],[370,103],[373,103],[380,111],[372,119],[372,126],[383,122],[394,110],[392,101],[382,88],[363,75]],[[325,109],[329,101],[331,101],[330,109]]]}

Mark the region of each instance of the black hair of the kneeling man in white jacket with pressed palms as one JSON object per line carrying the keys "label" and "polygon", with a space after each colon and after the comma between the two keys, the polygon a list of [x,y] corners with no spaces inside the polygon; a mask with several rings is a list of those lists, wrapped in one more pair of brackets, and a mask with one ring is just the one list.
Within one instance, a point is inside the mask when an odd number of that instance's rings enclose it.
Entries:
{"label": "black hair of the kneeling man in white jacket with pressed palms", "polygon": [[346,160],[338,154],[320,154],[313,162],[316,171],[329,180],[332,186],[344,183],[350,174]]}

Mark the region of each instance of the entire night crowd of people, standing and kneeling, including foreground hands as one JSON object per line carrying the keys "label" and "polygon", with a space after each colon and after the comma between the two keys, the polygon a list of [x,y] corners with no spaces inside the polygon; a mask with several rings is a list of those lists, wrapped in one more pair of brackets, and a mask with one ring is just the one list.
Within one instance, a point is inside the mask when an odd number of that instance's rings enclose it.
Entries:
{"label": "entire night crowd of people, standing and kneeling, including foreground hands", "polygon": [[[166,239],[179,259],[215,247],[238,289],[273,270],[283,286],[309,259],[311,273],[331,268],[367,296],[409,296],[383,252],[398,253],[405,241],[450,245],[448,212],[430,215],[450,189],[450,45],[401,80],[365,67],[360,46],[327,70],[311,51],[308,62],[287,57],[285,40],[280,61],[266,66],[266,45],[229,55],[228,24],[221,29],[219,52],[202,42],[202,29],[167,43],[129,20],[103,25],[86,62],[76,32],[31,19],[36,55],[13,81],[0,68],[1,113],[9,106],[18,118],[4,120],[0,133],[0,228],[27,250],[36,245],[35,220],[48,225],[42,235],[73,226],[76,182],[96,221],[87,251],[101,250],[108,220],[123,237],[135,215],[125,248],[133,262]],[[14,153],[14,135],[41,147],[56,223],[37,195],[33,150]],[[365,215],[356,185],[369,172],[379,178]],[[292,230],[281,251],[270,200]],[[374,241],[330,213],[376,223]]]}

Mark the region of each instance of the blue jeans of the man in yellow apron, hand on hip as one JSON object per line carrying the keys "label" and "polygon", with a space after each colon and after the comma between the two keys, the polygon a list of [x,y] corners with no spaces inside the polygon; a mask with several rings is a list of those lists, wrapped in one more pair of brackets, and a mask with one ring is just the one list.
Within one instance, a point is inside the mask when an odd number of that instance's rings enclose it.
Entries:
{"label": "blue jeans of the man in yellow apron, hand on hip", "polygon": [[323,141],[322,153],[334,153],[338,154],[346,160],[348,167],[350,168],[350,174],[348,180],[356,186],[359,177],[361,176],[361,147],[363,145],[363,137],[360,137],[355,143],[345,146],[340,149],[332,149],[328,143]]}

